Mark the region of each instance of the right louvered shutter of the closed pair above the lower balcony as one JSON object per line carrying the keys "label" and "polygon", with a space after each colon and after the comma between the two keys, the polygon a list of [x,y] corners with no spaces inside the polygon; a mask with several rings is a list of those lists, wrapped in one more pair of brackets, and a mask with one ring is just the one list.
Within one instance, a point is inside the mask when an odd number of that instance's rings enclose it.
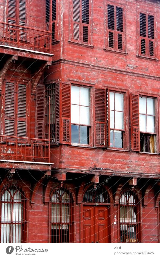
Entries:
{"label": "right louvered shutter of the closed pair above the lower balcony", "polygon": [[26,137],[26,85],[18,84],[17,136]]}

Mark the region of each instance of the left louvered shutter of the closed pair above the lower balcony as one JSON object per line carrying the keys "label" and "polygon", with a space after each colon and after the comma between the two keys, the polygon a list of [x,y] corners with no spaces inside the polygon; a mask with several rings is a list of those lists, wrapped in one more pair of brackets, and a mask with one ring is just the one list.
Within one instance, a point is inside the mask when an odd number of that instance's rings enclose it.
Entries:
{"label": "left louvered shutter of the closed pair above the lower balcony", "polygon": [[15,136],[15,83],[5,83],[5,135]]}

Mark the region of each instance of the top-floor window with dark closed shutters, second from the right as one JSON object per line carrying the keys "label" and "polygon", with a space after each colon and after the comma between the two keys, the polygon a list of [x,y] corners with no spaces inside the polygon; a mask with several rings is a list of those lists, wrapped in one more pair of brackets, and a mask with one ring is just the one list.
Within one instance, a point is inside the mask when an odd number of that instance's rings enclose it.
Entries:
{"label": "top-floor window with dark closed shutters, second from the right", "polygon": [[107,5],[107,48],[124,51],[124,15],[123,8]]}

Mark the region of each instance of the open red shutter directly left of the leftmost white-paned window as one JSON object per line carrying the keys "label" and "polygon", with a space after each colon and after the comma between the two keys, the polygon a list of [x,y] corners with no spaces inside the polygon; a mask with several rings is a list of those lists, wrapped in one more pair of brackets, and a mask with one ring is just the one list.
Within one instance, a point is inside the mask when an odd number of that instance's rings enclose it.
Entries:
{"label": "open red shutter directly left of the leftmost white-paned window", "polygon": [[62,83],[62,142],[70,143],[71,128],[71,87]]}

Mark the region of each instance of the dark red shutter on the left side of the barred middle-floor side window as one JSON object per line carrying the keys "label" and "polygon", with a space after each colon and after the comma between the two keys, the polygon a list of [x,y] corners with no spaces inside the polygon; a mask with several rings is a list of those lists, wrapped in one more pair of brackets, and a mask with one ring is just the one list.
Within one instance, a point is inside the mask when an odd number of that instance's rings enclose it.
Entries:
{"label": "dark red shutter on the left side of the barred middle-floor side window", "polygon": [[38,85],[36,92],[36,138],[44,138],[45,86]]}

